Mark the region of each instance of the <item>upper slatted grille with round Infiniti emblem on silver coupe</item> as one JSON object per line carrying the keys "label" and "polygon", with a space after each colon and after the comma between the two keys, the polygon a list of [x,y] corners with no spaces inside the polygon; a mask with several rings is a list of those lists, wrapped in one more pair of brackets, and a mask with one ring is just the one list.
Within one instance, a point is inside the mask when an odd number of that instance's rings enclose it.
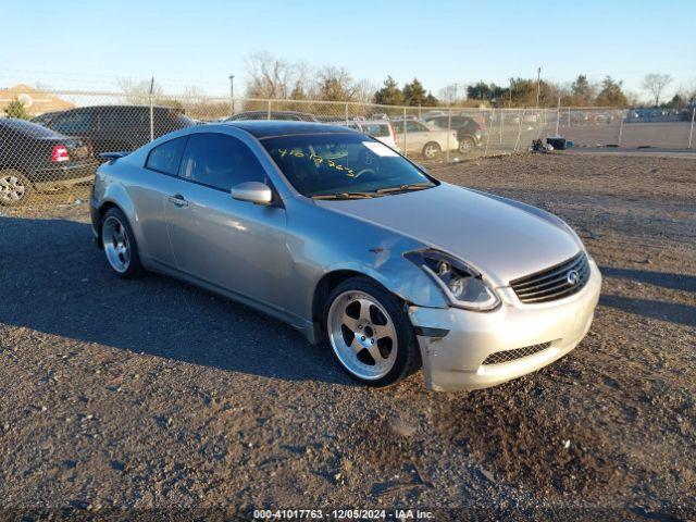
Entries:
{"label": "upper slatted grille with round Infiniti emblem on silver coupe", "polygon": [[[571,274],[576,276],[574,283],[570,282]],[[585,286],[588,278],[587,256],[580,252],[556,266],[514,279],[510,286],[522,302],[546,302],[572,296]]]}

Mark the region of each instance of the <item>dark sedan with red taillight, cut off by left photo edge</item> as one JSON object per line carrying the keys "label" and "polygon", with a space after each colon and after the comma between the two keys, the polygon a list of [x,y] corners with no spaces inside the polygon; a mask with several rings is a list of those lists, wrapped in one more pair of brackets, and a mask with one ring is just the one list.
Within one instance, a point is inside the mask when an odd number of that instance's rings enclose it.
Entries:
{"label": "dark sedan with red taillight, cut off by left photo edge", "polygon": [[91,182],[90,144],[24,120],[0,119],[0,206],[17,207],[35,191]]}

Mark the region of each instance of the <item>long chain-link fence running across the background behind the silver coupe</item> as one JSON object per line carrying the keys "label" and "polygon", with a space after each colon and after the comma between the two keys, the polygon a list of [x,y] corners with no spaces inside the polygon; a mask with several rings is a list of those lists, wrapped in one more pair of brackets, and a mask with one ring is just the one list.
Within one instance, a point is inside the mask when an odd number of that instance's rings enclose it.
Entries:
{"label": "long chain-link fence running across the background behind the silver coupe", "polygon": [[[468,109],[79,90],[0,90],[0,212],[86,201],[99,154],[178,128],[301,120],[372,135],[424,165],[509,154],[562,136],[575,147],[694,147],[696,108]],[[18,117],[17,117],[18,116]]]}

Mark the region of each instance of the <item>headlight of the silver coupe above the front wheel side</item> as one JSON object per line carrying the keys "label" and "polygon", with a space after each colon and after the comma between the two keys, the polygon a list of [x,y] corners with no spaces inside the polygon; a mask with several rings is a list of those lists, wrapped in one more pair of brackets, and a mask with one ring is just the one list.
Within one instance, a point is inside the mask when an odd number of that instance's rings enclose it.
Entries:
{"label": "headlight of the silver coupe above the front wheel side", "polygon": [[432,249],[408,252],[405,257],[435,281],[451,306],[489,311],[500,304],[500,298],[482,275],[457,258]]}

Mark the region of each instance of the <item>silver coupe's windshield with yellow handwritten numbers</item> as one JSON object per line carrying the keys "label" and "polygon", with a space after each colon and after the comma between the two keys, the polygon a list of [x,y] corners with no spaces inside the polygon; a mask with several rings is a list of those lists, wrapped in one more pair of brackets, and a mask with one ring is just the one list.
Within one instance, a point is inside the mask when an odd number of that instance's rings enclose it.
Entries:
{"label": "silver coupe's windshield with yellow handwritten numbers", "polygon": [[[307,197],[371,197],[437,184],[387,146],[358,133],[261,140],[285,177]],[[391,190],[394,189],[394,190]]]}

